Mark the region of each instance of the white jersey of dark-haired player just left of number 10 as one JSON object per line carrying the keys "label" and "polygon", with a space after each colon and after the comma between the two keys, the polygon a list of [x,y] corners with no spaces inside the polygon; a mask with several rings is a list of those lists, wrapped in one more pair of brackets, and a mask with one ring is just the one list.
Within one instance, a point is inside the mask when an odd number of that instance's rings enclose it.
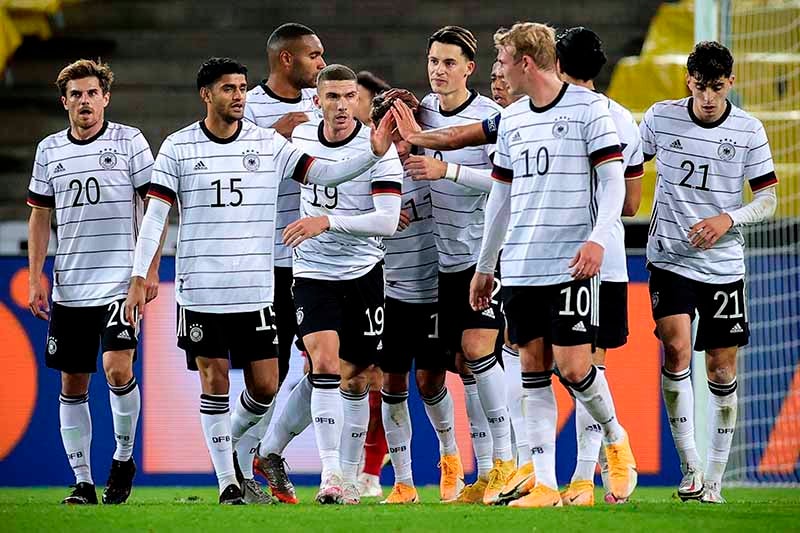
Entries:
{"label": "white jersey of dark-haired player just left of number 10", "polygon": [[[492,99],[472,91],[457,109],[442,111],[439,98],[431,93],[420,102],[417,120],[423,129],[444,128],[480,122],[497,114],[501,107]],[[492,168],[494,145],[470,146],[444,152],[425,150],[425,155],[448,163],[476,169]],[[483,209],[487,193],[464,187],[450,180],[431,183],[433,218],[439,270],[461,272],[478,262],[483,239]]]}

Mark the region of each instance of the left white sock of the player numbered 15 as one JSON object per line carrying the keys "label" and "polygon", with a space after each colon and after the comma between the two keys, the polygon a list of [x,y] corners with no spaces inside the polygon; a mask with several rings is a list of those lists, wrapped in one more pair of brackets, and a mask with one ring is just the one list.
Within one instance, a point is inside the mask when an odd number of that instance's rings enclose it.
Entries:
{"label": "left white sock of the player numbered 15", "polygon": [[200,424],[211,455],[214,472],[217,473],[219,492],[229,485],[237,485],[233,467],[233,442],[231,439],[231,415],[227,394],[200,395]]}

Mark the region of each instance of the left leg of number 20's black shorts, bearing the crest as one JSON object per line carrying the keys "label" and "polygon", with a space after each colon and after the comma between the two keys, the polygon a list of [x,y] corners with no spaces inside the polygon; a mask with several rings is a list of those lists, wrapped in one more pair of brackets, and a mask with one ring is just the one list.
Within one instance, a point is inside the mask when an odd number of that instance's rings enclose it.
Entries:
{"label": "left leg of number 20's black shorts, bearing the crest", "polygon": [[67,374],[97,372],[105,307],[67,307],[53,303],[45,363]]}

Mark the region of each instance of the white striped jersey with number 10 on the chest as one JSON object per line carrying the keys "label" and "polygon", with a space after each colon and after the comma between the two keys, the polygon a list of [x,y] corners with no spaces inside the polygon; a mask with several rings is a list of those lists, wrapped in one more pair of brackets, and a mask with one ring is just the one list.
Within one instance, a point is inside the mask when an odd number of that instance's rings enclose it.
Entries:
{"label": "white striped jersey with number 10 on the chest", "polygon": [[594,169],[620,160],[603,95],[565,83],[547,106],[522,98],[503,110],[492,175],[511,183],[500,259],[504,285],[572,281],[569,262],[597,215]]}

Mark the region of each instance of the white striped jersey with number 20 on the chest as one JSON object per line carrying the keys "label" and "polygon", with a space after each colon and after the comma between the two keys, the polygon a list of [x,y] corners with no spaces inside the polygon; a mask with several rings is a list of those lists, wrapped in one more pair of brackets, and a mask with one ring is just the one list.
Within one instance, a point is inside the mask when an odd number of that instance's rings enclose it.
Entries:
{"label": "white striped jersey with number 20 on the chest", "polygon": [[94,137],[69,130],[39,143],[28,205],[56,210],[53,301],[69,307],[124,298],[153,155],[136,128],[106,122]]}

